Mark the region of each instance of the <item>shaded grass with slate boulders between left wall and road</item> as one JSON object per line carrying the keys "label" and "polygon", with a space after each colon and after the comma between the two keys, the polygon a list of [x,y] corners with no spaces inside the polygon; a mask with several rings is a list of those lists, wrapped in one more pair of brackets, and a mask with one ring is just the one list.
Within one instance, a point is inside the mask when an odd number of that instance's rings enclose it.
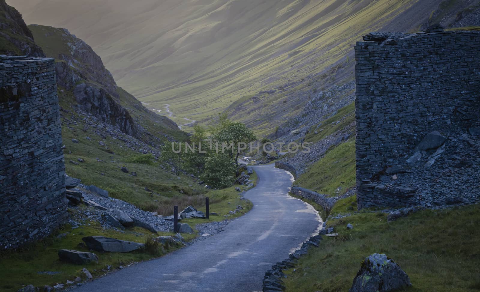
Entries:
{"label": "shaded grass with slate boulders between left wall and road", "polygon": [[[72,210],[70,210],[72,211]],[[130,253],[101,253],[94,252],[98,256],[98,264],[90,263],[88,265],[75,265],[60,261],[58,251],[60,249],[74,249],[88,252],[88,248],[80,246],[82,237],[90,235],[101,235],[118,238],[122,240],[145,243],[147,236],[151,232],[140,227],[127,228],[124,233],[111,229],[102,228],[98,222],[85,222],[90,225],[80,226],[71,229],[70,225],[63,225],[58,234],[67,233],[64,238],[57,238],[57,234],[52,234],[43,240],[32,245],[24,246],[16,252],[4,252],[0,254],[0,265],[8,267],[4,269],[0,276],[0,291],[17,291],[22,285],[32,284],[34,286],[51,285],[55,283],[65,283],[66,280],[74,280],[77,276],[85,279],[81,270],[87,268],[94,277],[104,274],[102,269],[106,265],[111,265],[112,269],[120,265],[125,266],[133,262],[148,260],[154,256],[144,251],[133,251]],[[172,235],[170,233],[158,233],[155,236]],[[182,234],[184,238],[190,240],[195,234]],[[177,247],[170,246],[168,250],[159,251],[163,255]],[[96,270],[96,271],[95,271]],[[60,272],[54,275],[39,274],[38,272],[53,271]]]}

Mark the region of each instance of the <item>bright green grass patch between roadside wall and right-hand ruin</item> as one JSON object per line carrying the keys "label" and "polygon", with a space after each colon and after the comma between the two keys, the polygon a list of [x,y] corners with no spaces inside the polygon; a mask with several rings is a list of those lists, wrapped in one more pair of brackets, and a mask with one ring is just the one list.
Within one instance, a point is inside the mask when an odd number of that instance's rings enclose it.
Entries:
{"label": "bright green grass patch between roadside wall and right-hand ruin", "polygon": [[295,180],[294,185],[329,196],[343,195],[355,186],[355,165],[355,139],[350,139],[326,152]]}

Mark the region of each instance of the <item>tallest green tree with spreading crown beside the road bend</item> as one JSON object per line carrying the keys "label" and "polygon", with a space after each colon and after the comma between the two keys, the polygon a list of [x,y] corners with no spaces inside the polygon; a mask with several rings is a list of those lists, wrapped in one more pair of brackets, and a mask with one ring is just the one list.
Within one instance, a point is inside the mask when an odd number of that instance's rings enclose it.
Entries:
{"label": "tallest green tree with spreading crown beside the road bend", "polygon": [[[221,129],[217,134],[215,134],[214,138],[219,144],[227,145],[227,147],[229,147],[229,156],[235,161],[237,168],[238,158],[241,153],[240,148],[244,146],[240,143],[244,143],[247,145],[246,147],[248,147],[248,143],[257,139],[253,131],[244,123],[240,122],[230,122],[225,128]],[[220,146],[222,151],[226,150],[227,147]]]}

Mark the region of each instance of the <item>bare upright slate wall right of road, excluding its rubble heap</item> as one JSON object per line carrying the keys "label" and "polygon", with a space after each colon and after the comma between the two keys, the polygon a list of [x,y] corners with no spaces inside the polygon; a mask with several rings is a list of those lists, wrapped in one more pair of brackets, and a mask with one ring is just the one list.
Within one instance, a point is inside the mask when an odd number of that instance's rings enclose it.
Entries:
{"label": "bare upright slate wall right of road, excluding its rubble heap", "polygon": [[401,191],[364,185],[479,98],[480,32],[372,33],[355,53],[358,207],[414,204]]}

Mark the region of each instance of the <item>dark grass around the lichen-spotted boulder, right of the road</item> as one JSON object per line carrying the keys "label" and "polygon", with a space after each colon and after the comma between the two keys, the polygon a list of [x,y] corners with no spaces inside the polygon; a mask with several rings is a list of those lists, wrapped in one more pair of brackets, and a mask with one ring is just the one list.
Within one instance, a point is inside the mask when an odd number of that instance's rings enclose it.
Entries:
{"label": "dark grass around the lichen-spotted boulder, right of the road", "polygon": [[[364,213],[329,222],[340,240],[324,237],[284,279],[287,292],[348,291],[361,261],[384,253],[404,269],[408,292],[480,290],[480,205],[424,210],[386,222],[384,213]],[[347,231],[351,223],[354,229]]]}

